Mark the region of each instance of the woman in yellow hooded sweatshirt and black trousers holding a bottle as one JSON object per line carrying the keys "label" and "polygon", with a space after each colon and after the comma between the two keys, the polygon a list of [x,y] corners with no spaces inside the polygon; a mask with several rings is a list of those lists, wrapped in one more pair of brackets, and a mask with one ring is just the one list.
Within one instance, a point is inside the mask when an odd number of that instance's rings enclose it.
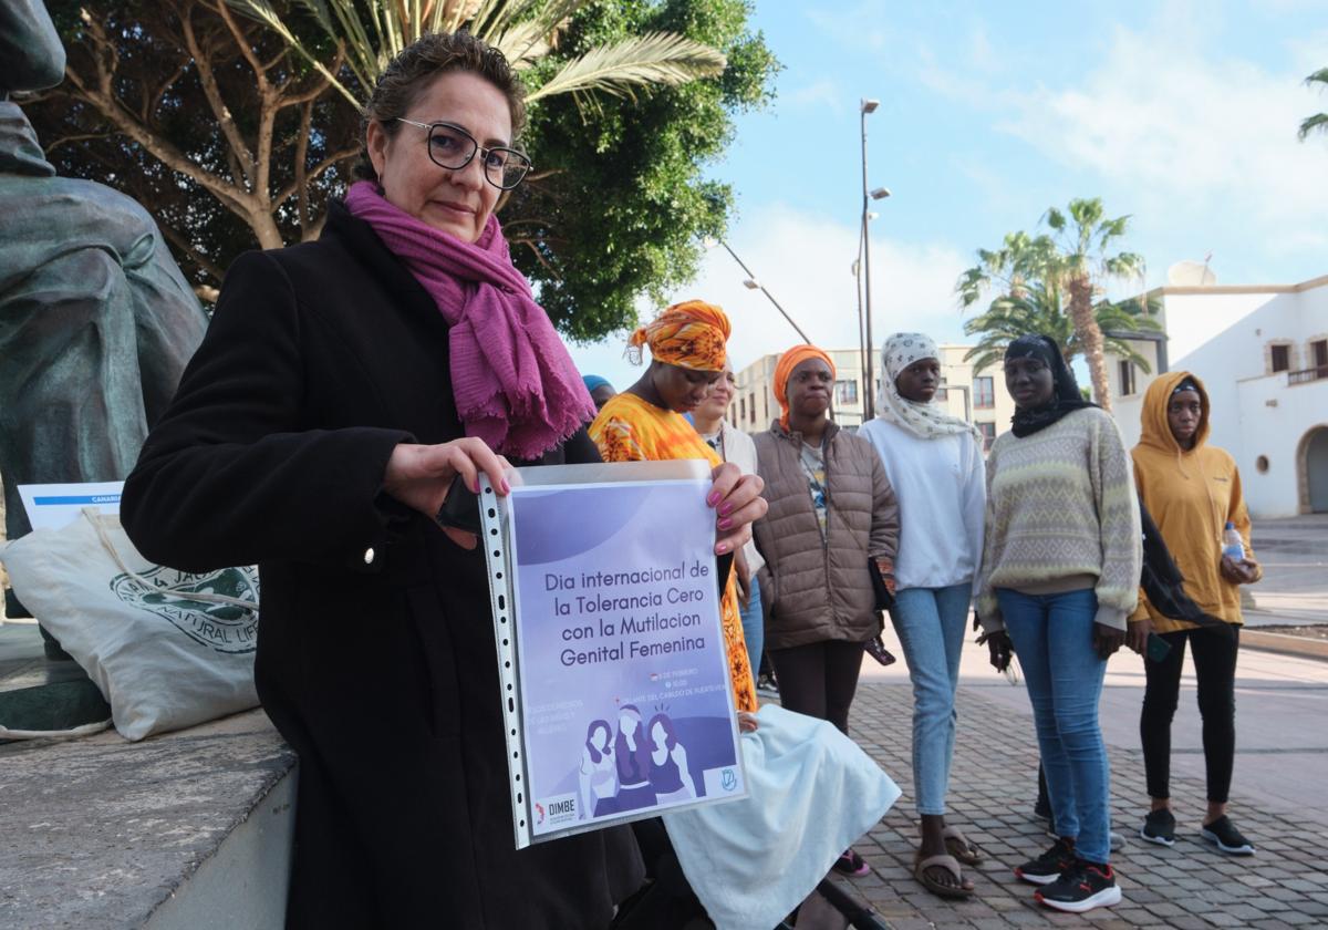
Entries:
{"label": "woman in yellow hooded sweatshirt and black trousers holding a bottle", "polygon": [[[1139,501],[1185,575],[1185,593],[1208,618],[1202,624],[1167,618],[1142,593],[1130,616],[1129,643],[1146,655],[1147,676],[1139,737],[1151,809],[1139,836],[1162,846],[1175,842],[1169,788],[1171,719],[1189,643],[1207,768],[1208,809],[1201,833],[1224,853],[1248,856],[1254,846],[1227,817],[1227,793],[1235,756],[1239,586],[1259,581],[1262,571],[1250,547],[1240,473],[1224,449],[1207,445],[1208,417],[1208,393],[1198,377],[1190,372],[1163,375],[1143,397],[1143,433],[1131,453]],[[1244,551],[1239,558],[1223,550],[1227,527],[1240,535]],[[1158,655],[1159,647],[1147,648],[1150,632],[1170,647],[1165,656]]]}

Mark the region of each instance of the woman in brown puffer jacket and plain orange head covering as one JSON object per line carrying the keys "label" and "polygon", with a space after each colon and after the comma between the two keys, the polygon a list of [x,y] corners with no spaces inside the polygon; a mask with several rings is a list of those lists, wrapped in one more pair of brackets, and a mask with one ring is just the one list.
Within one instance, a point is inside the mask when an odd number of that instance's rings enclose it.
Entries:
{"label": "woman in brown puffer jacket and plain orange head covering", "polygon": [[[756,437],[770,510],[757,547],[774,579],[766,648],[786,709],[849,732],[863,644],[878,630],[869,559],[892,585],[899,508],[871,444],[830,420],[834,363],[794,345],[774,368],[780,418]],[[835,870],[865,876],[851,848]]]}

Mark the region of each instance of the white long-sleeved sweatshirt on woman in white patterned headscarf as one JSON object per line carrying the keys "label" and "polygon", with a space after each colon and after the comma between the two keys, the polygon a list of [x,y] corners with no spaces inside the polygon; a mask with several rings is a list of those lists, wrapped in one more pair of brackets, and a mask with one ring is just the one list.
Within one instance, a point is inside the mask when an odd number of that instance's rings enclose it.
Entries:
{"label": "white long-sleeved sweatshirt on woman in white patterned headscarf", "polygon": [[985,465],[973,437],[924,440],[879,418],[863,424],[858,436],[875,446],[899,500],[898,587],[972,583],[987,512]]}

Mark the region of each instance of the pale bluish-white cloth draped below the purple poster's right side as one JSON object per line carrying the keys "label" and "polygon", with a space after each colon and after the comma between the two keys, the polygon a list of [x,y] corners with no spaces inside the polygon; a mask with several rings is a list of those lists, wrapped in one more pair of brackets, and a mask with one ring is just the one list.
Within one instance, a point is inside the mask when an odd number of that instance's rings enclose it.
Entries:
{"label": "pale bluish-white cloth draped below the purple poster's right side", "polygon": [[825,720],[765,704],[744,733],[748,796],[663,816],[683,874],[718,930],[773,927],[899,798]]}

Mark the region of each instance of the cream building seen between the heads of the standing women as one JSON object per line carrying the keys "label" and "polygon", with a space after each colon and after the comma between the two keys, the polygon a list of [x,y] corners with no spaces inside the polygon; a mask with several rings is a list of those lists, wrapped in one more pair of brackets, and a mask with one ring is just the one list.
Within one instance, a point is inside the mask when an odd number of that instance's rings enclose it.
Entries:
{"label": "cream building seen between the heads of the standing women", "polygon": [[[1015,416],[1015,401],[1005,391],[1000,369],[973,371],[964,361],[971,345],[938,345],[940,377],[944,385],[936,392],[935,403],[954,416],[976,424],[987,437],[987,445],[1009,429]],[[857,429],[862,425],[865,404],[862,356],[858,349],[826,349],[835,365],[835,389],[831,416],[841,426]],[[737,397],[729,405],[729,422],[738,429],[757,433],[770,428],[780,416],[774,400],[774,367],[780,356],[766,355],[737,372]],[[880,356],[872,360],[876,389],[880,388]]]}

